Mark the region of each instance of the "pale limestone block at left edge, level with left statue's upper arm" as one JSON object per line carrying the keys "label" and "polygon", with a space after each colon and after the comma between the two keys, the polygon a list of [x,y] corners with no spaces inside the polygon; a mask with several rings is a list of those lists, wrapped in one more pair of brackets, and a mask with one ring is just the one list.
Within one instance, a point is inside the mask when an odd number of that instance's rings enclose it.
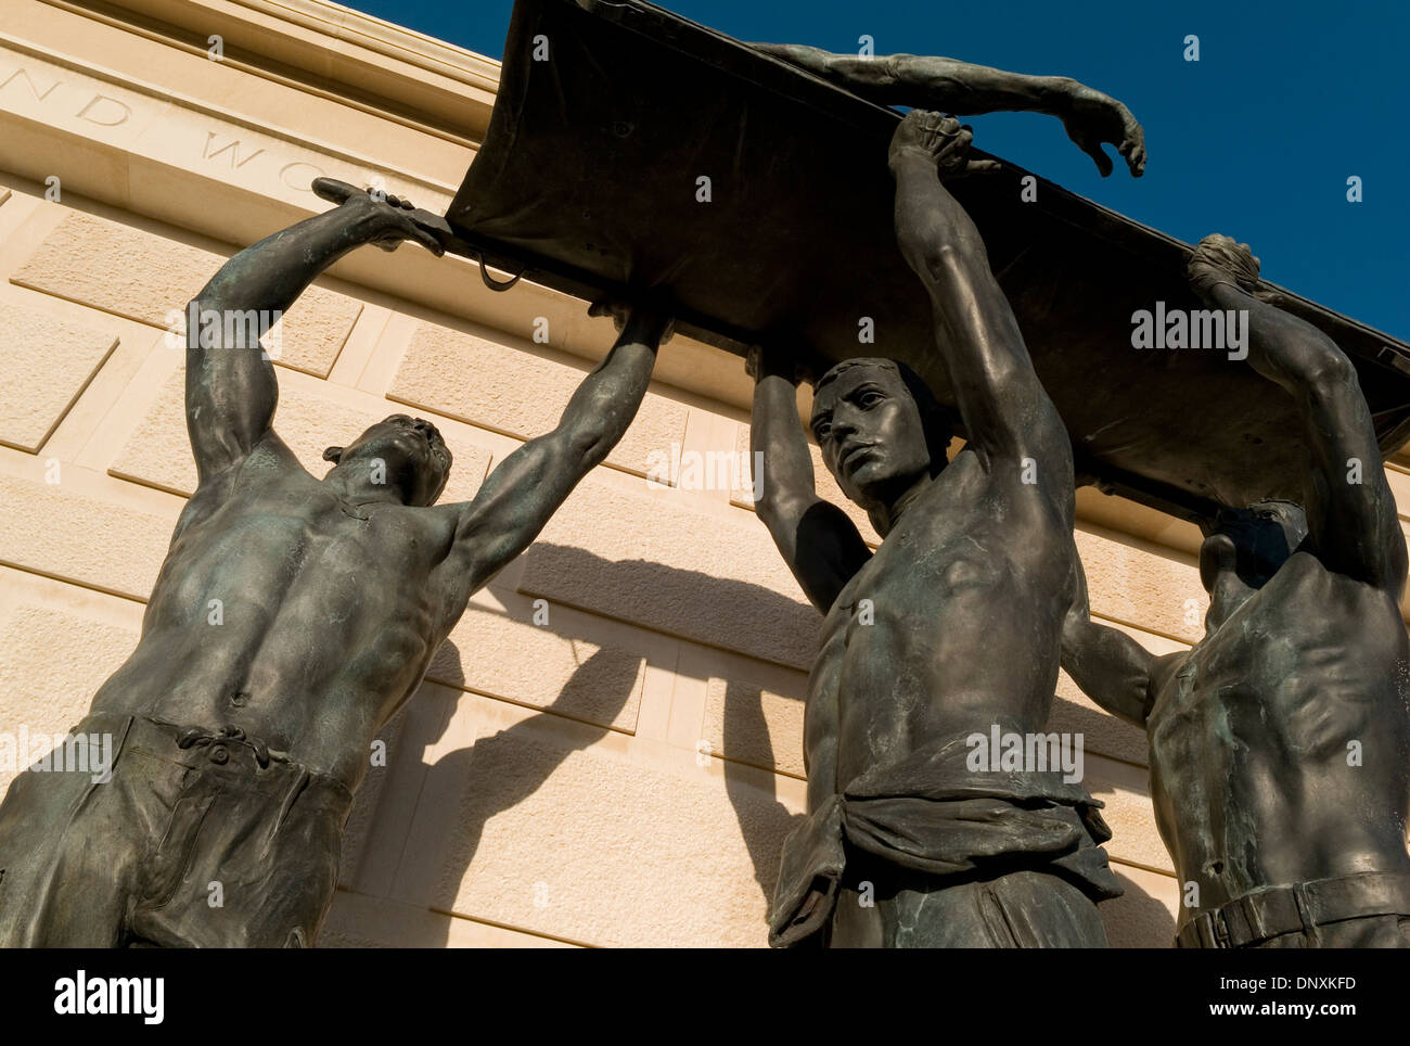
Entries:
{"label": "pale limestone block at left edge, level with left statue's upper arm", "polygon": [[117,347],[117,337],[89,323],[7,304],[4,338],[0,443],[37,451]]}

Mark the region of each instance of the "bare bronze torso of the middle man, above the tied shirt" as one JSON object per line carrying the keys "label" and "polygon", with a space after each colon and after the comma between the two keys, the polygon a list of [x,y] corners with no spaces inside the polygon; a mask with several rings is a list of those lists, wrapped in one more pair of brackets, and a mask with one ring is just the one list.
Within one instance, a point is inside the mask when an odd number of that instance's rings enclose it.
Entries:
{"label": "bare bronze torso of the middle man, above the tied shirt", "polygon": [[833,603],[809,679],[809,808],[929,742],[1046,722],[1076,546],[1039,488],[1001,472],[960,451]]}

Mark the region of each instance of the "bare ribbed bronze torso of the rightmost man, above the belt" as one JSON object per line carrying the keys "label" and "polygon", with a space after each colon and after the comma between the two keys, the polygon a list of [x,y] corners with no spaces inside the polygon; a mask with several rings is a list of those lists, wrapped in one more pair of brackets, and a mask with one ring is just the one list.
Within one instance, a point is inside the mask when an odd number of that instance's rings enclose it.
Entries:
{"label": "bare ribbed bronze torso of the rightmost man, above the belt", "polygon": [[1200,908],[1261,885],[1410,871],[1410,643],[1389,595],[1297,553],[1163,671],[1151,788]]}

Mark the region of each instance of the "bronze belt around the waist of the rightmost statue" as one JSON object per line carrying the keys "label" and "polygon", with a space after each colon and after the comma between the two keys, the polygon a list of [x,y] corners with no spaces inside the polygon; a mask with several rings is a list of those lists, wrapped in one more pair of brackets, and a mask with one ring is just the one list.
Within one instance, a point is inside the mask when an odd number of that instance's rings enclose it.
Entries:
{"label": "bronze belt around the waist of the rightmost statue", "polygon": [[1175,935],[1176,947],[1245,947],[1342,919],[1410,915],[1410,874],[1363,871],[1266,887],[1200,912]]}

